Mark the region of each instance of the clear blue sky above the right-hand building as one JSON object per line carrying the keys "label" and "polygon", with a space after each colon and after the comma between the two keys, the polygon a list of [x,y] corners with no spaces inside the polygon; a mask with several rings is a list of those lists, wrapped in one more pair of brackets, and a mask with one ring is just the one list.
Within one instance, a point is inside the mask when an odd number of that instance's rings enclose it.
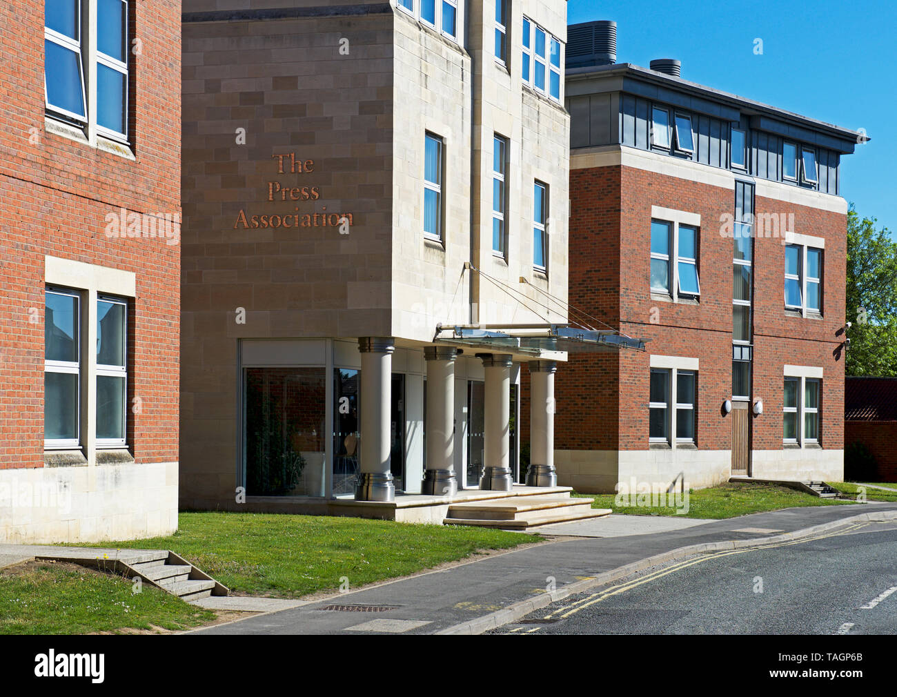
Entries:
{"label": "clear blue sky above the right-hand building", "polygon": [[871,141],[841,160],[841,196],[897,239],[897,3],[570,0],[567,19],[617,22],[619,63],[677,58],[686,80],[865,128]]}

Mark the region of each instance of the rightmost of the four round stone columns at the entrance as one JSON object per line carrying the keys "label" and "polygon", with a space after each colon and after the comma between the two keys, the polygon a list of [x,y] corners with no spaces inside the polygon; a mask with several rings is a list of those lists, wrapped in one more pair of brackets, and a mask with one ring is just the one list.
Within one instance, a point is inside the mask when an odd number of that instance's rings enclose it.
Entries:
{"label": "rightmost of the four round stone columns at the entrance", "polygon": [[554,373],[557,363],[529,363],[529,468],[527,486],[557,486],[554,469]]}

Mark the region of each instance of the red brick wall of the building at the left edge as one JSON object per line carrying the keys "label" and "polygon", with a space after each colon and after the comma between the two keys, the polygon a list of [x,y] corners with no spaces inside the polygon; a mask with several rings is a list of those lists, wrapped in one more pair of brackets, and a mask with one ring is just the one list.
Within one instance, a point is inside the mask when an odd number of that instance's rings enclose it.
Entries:
{"label": "red brick wall of the building at the left edge", "polygon": [[[0,468],[43,465],[44,257],[136,274],[127,442],[138,462],[178,458],[179,246],[109,239],[106,215],[180,213],[180,3],[132,2],[136,161],[50,134],[44,117],[44,3],[0,6]],[[37,322],[30,321],[36,308]]]}

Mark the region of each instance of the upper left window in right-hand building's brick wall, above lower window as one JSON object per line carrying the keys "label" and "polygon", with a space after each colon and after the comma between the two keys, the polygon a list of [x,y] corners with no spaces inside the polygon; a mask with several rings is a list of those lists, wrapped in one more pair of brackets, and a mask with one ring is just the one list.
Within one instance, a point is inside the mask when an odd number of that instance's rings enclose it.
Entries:
{"label": "upper left window in right-hand building's brick wall, above lower window", "polygon": [[701,296],[698,254],[701,216],[651,206],[651,292],[680,298]]}

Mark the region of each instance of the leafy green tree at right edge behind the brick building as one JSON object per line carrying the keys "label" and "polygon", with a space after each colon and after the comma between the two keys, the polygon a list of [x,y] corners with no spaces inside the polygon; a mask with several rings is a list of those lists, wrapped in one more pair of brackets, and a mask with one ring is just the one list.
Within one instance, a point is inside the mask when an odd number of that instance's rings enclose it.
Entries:
{"label": "leafy green tree at right edge behind the brick building", "polygon": [[875,218],[847,214],[848,375],[897,377],[897,242]]}

